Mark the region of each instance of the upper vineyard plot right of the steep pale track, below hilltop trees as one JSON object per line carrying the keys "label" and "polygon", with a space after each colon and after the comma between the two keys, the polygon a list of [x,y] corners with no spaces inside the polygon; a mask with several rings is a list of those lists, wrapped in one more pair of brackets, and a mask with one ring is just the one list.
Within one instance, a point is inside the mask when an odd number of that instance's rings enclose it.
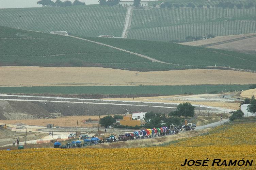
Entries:
{"label": "upper vineyard plot right of the steep pale track, below hilltop trees", "polygon": [[[162,27],[173,24],[227,20],[233,17],[255,16],[256,9],[223,9],[223,8],[155,8],[151,10],[134,10],[131,28]],[[251,19],[251,18],[250,18]],[[256,20],[256,16],[255,19]]]}

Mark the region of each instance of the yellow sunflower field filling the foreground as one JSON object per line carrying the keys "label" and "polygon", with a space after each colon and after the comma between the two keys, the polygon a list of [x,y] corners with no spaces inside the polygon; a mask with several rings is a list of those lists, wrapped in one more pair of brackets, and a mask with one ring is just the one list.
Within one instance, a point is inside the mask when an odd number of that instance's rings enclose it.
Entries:
{"label": "yellow sunflower field filling the foreground", "polygon": [[[170,169],[170,167],[188,169],[188,166],[180,166],[188,158],[187,155],[190,155],[189,160],[204,160],[208,158],[208,166],[212,165],[215,158],[219,158],[222,161],[227,159],[227,164],[229,159],[234,161],[235,159],[241,160],[244,157],[245,162],[247,159],[251,162],[256,156],[255,152],[252,152],[256,149],[254,131],[255,126],[253,123],[224,125],[211,130],[205,135],[168,142],[163,147],[2,150],[0,151],[0,156],[2,157],[0,163],[4,169],[14,169],[17,166],[24,169],[72,169],[74,167],[128,169],[131,166],[137,169]],[[159,140],[159,138],[154,140]],[[143,140],[141,141],[143,142]],[[133,142],[135,146],[138,141],[135,140]],[[122,146],[123,142],[119,143],[117,143],[119,144],[118,146]],[[115,143],[112,145],[115,145]],[[84,153],[83,156],[81,156],[81,153]],[[102,156],[106,153],[108,153],[108,156]],[[16,157],[15,159],[13,159],[14,156]],[[70,156],[73,158],[72,163],[69,161]],[[83,162],[86,162],[86,164],[82,164]],[[217,165],[214,164],[214,166]],[[255,169],[254,163],[252,166],[247,166]],[[239,168],[245,168],[245,166],[243,165],[243,167]]]}

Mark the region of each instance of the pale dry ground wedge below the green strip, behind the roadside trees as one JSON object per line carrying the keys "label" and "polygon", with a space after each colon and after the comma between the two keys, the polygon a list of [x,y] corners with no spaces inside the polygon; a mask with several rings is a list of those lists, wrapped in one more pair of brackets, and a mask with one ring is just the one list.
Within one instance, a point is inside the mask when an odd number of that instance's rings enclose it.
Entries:
{"label": "pale dry ground wedge below the green strip, behind the roadside trees", "polygon": [[203,95],[180,95],[180,96],[160,96],[160,97],[139,97],[139,98],[114,98],[103,100],[124,100],[124,101],[142,101],[142,102],[163,102],[163,103],[185,103],[189,102],[196,105],[220,107],[225,109],[239,108],[239,103],[233,99],[223,98],[223,95],[203,94]]}

